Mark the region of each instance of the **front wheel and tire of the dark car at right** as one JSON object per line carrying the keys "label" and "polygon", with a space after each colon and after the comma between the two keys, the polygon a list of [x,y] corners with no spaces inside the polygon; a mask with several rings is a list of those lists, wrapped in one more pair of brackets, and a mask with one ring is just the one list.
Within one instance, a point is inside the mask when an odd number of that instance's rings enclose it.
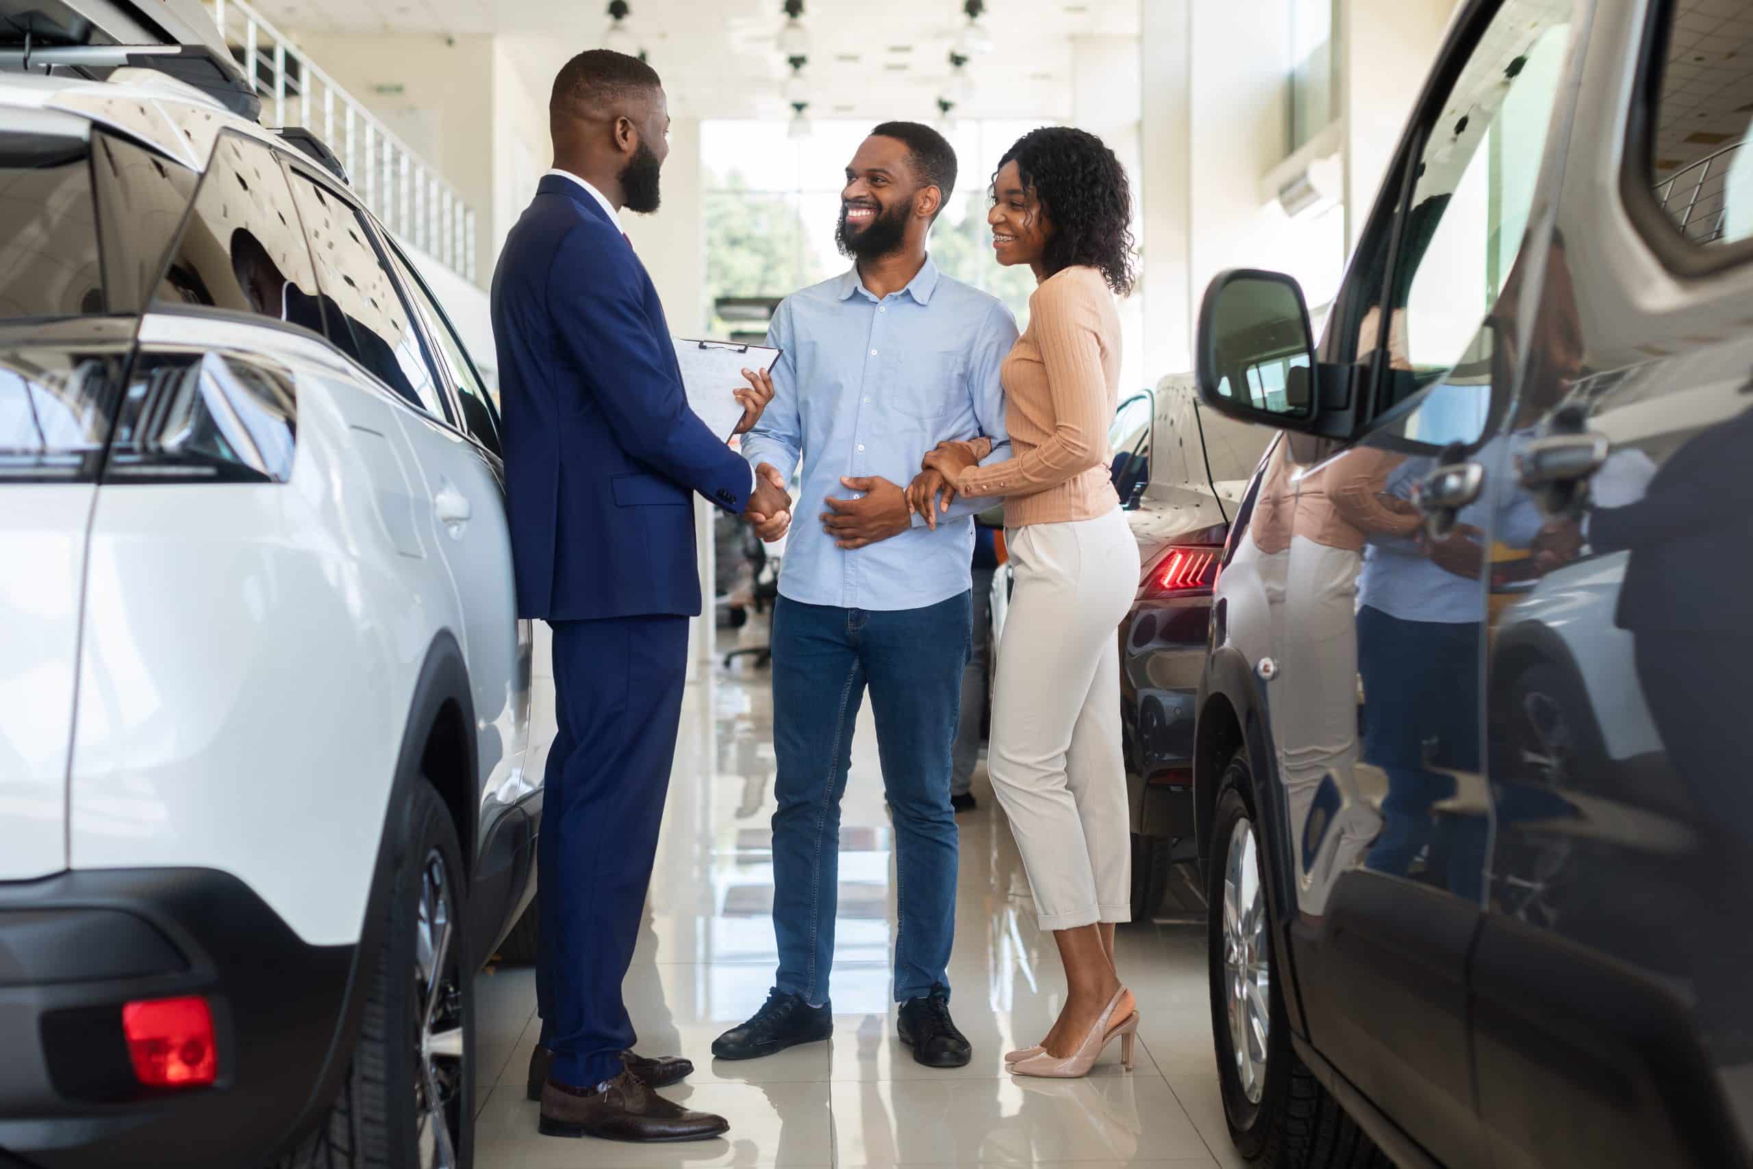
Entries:
{"label": "front wheel and tire of the dark car at right", "polygon": [[1218,783],[1206,852],[1211,1045],[1231,1141],[1260,1169],[1385,1165],[1290,1046],[1257,824],[1248,757],[1238,750]]}

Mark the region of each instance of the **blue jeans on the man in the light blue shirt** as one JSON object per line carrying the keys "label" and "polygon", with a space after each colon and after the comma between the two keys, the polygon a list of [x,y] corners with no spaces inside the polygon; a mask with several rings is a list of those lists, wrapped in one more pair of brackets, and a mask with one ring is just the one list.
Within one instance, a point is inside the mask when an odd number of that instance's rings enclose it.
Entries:
{"label": "blue jeans on the man in the light blue shirt", "polygon": [[955,813],[950,743],[968,662],[968,594],[912,610],[773,608],[773,932],[777,987],[827,1001],[840,892],[840,799],[864,689],[876,715],[894,811],[894,997],[948,987],[955,941]]}

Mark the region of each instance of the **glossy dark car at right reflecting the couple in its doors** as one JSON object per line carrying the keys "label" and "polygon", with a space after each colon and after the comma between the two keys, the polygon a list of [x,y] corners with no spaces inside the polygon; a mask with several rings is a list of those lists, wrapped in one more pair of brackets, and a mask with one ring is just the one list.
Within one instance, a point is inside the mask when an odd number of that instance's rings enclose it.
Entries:
{"label": "glossy dark car at right reflecting the couple in its doors", "polygon": [[1320,344],[1206,296],[1203,401],[1287,431],[1194,745],[1246,1160],[1753,1160],[1753,182],[1685,12],[1464,5]]}

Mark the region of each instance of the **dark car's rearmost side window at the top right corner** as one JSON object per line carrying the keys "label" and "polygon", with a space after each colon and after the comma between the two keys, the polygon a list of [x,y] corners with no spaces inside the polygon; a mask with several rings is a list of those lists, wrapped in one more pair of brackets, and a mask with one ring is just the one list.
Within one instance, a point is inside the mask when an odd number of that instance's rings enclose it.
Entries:
{"label": "dark car's rearmost side window at the top right corner", "polygon": [[[1667,53],[1651,119],[1657,202],[1699,247],[1753,238],[1753,18],[1664,5]],[[1678,12],[1678,9],[1685,9]]]}

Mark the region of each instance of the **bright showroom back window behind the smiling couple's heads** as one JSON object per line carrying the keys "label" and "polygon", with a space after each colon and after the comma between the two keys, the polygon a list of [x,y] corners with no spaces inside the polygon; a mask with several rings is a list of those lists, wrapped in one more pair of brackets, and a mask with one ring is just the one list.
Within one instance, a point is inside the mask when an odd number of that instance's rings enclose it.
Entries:
{"label": "bright showroom back window behind the smiling couple's heads", "polygon": [[[931,231],[938,268],[992,293],[1027,321],[1034,277],[992,261],[985,223],[987,186],[999,156],[1036,121],[964,121],[945,137],[955,147],[955,193]],[[782,298],[848,263],[834,249],[847,161],[869,133],[869,121],[817,121],[791,138],[780,121],[701,124],[705,174],[706,305],[726,296]],[[712,317],[719,335],[733,324]]]}

